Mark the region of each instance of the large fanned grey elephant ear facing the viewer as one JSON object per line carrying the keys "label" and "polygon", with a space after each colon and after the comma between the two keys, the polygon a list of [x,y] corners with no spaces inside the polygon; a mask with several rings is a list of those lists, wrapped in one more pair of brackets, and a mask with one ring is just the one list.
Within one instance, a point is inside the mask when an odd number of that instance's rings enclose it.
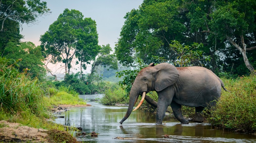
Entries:
{"label": "large fanned grey elephant ear facing the viewer", "polygon": [[155,66],[155,69],[157,70],[155,79],[156,91],[161,91],[175,84],[179,78],[179,71],[171,64],[160,63]]}

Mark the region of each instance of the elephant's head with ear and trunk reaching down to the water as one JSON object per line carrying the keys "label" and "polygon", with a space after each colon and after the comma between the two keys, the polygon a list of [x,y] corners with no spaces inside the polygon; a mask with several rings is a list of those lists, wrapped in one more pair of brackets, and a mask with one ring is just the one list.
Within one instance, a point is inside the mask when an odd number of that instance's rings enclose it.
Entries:
{"label": "elephant's head with ear and trunk reaching down to the water", "polygon": [[178,78],[178,70],[175,66],[168,63],[160,63],[156,66],[154,63],[151,63],[148,67],[139,71],[130,91],[128,110],[119,123],[122,124],[130,116],[139,95],[142,95],[142,98],[134,110],[138,109],[142,104],[146,93],[149,91],[161,91],[175,84]]}

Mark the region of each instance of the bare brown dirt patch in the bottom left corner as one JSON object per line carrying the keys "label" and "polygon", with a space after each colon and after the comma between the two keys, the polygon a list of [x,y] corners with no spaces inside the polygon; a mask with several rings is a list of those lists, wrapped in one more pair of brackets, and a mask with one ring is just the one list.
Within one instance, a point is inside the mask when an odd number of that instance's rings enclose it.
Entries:
{"label": "bare brown dirt patch in the bottom left corner", "polygon": [[19,123],[0,121],[0,142],[45,142],[48,130],[23,126]]}

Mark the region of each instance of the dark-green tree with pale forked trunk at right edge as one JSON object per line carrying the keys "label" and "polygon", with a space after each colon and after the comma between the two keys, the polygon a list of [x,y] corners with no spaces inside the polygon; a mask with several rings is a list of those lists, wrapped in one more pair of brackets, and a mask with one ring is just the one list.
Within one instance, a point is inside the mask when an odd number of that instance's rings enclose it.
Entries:
{"label": "dark-green tree with pale forked trunk at right edge", "polygon": [[217,4],[216,10],[211,14],[212,20],[207,32],[213,32],[239,50],[247,69],[256,74],[246,56],[246,51],[256,49],[256,2],[240,0]]}

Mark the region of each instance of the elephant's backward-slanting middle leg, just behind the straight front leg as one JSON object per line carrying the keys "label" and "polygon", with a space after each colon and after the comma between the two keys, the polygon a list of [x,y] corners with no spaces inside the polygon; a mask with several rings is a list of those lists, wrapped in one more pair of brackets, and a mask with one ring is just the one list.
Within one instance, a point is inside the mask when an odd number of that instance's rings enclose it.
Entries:
{"label": "elephant's backward-slanting middle leg, just behind the straight front leg", "polygon": [[181,104],[178,104],[176,102],[171,103],[172,111],[176,119],[178,119],[181,124],[188,124],[188,120],[184,119],[181,112]]}

